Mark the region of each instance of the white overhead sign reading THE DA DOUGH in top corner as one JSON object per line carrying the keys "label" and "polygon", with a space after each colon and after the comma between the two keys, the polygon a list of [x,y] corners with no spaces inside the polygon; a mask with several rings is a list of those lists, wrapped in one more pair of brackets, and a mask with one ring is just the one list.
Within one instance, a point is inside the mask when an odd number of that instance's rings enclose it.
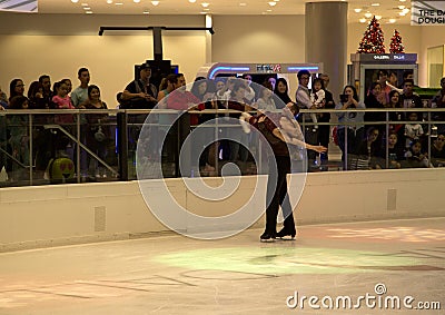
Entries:
{"label": "white overhead sign reading THE DA DOUGH in top corner", "polygon": [[412,1],[412,26],[445,26],[445,1]]}

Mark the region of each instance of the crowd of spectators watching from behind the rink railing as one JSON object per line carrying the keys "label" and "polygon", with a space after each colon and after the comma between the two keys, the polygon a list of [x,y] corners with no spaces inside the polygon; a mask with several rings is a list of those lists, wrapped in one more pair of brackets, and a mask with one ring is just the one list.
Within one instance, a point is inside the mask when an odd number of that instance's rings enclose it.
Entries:
{"label": "crowd of spectators watching from behind the rink railing", "polygon": [[[151,81],[151,68],[148,63],[138,67],[138,79],[130,81],[123,91],[117,95],[117,101],[123,109],[152,109],[159,108],[190,110],[190,109],[236,109],[239,111],[263,111],[281,109],[293,102],[289,96],[288,82],[285,78],[268,76],[260,85],[253,85],[253,76],[245,73],[243,78],[218,77],[215,80],[196,78],[190,91],[186,87],[184,75],[168,75],[159,87]],[[354,86],[346,86],[340,95],[339,102],[335,104],[333,93],[327,89],[329,77],[324,73],[314,77],[307,70],[297,75],[298,87],[295,101],[303,109],[310,109],[310,114],[299,117],[304,126],[305,139],[312,145],[328,147],[330,137],[334,136],[336,144],[343,152],[343,167],[350,168],[402,168],[402,167],[437,167],[443,166],[445,160],[444,111],[434,111],[431,116],[424,112],[406,111],[411,108],[423,108],[424,105],[418,95],[413,90],[414,80],[407,73],[402,86],[397,86],[396,76],[386,70],[378,70],[377,80],[368,87],[364,101],[359,100]],[[394,79],[395,77],[395,79]],[[29,86],[26,95],[24,82],[13,79],[9,87],[9,98],[0,89],[0,110],[4,109],[107,109],[101,101],[100,88],[90,85],[90,73],[87,68],[78,71],[79,86],[72,90],[70,79],[62,79],[53,83],[48,75],[40,76]],[[312,88],[309,89],[309,82]],[[445,107],[445,78],[441,80],[442,89],[431,100],[432,108]],[[174,93],[174,91],[177,92]],[[332,109],[336,117],[330,114],[320,112],[318,109]],[[374,111],[368,111],[373,109]],[[392,111],[386,111],[390,109]],[[398,110],[394,110],[398,109]],[[80,115],[81,140],[100,158],[107,156],[103,139],[111,137],[111,130],[103,127],[107,115]],[[239,116],[238,116],[239,117]],[[442,121],[434,126],[437,135],[431,141],[425,126],[428,118]],[[209,119],[206,115],[190,115],[190,125],[196,126]],[[326,122],[338,121],[332,131],[332,126]],[[36,116],[34,121],[34,146],[32,158],[29,160],[29,121],[27,116],[11,115],[8,120],[0,121],[0,169],[7,168],[11,180],[20,180],[26,177],[20,170],[21,166],[36,166],[36,170],[44,176],[44,170],[55,155],[72,158],[72,144],[62,135],[55,138],[53,135],[42,126],[44,124],[58,124],[68,132],[75,134],[72,125],[75,117],[69,114],[57,114],[53,116]],[[368,124],[370,122],[370,124]],[[380,124],[375,124],[380,122]],[[390,122],[387,125],[387,122]],[[231,139],[246,142],[246,137],[240,126],[228,128],[227,132]],[[431,129],[431,128],[429,128]],[[60,132],[59,132],[60,134]],[[100,136],[101,135],[101,136]],[[137,137],[137,136],[136,136]],[[135,139],[136,141],[137,139]],[[171,139],[170,139],[171,140]],[[428,147],[428,144],[432,144]],[[227,148],[219,156],[220,148]],[[428,151],[431,156],[428,156]],[[11,163],[12,156],[17,163]],[[248,158],[246,148],[240,147],[237,141],[217,142],[202,155],[200,165],[207,170],[215,170],[218,158],[245,161]],[[308,156],[308,170],[314,168],[327,170],[329,165],[328,152]],[[107,173],[96,159],[88,156],[81,158],[82,171],[98,178],[107,177]],[[19,166],[18,166],[19,165]]]}

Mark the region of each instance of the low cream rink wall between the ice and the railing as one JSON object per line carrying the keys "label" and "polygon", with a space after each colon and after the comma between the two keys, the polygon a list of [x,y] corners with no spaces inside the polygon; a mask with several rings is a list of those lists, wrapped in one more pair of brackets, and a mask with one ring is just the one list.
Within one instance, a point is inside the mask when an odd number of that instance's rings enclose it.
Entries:
{"label": "low cream rink wall between the ice and the railing", "polygon": [[[221,181],[206,180],[210,186]],[[265,184],[266,177],[258,183],[255,176],[243,177],[236,194],[219,203],[206,203],[190,194],[180,179],[167,179],[171,196],[180,205],[205,216],[227,215],[230,208],[244,205],[254,189],[265,196]],[[156,198],[156,185],[147,185],[145,189]],[[294,214],[298,224],[445,216],[443,187],[445,169],[437,168],[308,174]],[[296,189],[290,187],[291,191]],[[254,200],[250,207],[251,214],[248,210],[243,220],[263,227],[264,218],[257,219],[253,213],[254,208],[264,208],[264,199]],[[174,224],[178,230],[237,228],[194,226],[181,214]],[[168,232],[148,209],[137,181],[0,189],[0,252]]]}

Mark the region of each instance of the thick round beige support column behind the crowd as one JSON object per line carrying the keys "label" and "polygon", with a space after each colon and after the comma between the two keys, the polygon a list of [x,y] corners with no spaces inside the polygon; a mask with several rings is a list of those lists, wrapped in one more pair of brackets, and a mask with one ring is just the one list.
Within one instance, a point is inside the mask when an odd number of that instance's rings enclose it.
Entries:
{"label": "thick round beige support column behind the crowd", "polygon": [[347,9],[344,1],[306,3],[306,62],[323,62],[336,104],[346,85]]}

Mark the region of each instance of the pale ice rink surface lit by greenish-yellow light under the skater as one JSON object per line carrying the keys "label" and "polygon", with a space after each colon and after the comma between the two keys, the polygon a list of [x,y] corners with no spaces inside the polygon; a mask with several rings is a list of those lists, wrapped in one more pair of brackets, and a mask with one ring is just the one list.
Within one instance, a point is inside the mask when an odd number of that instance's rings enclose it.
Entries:
{"label": "pale ice rink surface lit by greenish-yellow light under the skater", "polygon": [[445,314],[445,218],[261,232],[0,254],[0,314]]}

